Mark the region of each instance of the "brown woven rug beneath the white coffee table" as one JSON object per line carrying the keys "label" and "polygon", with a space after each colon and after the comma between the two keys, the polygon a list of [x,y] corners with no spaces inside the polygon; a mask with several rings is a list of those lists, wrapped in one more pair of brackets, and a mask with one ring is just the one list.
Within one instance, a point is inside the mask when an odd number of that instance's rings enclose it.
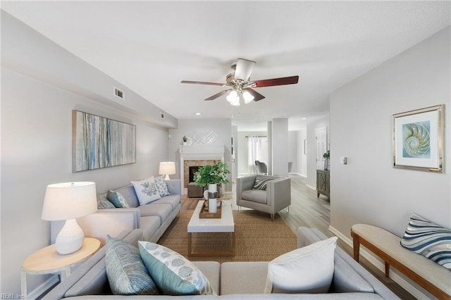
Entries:
{"label": "brown woven rug beneath the white coffee table", "polygon": [[[178,252],[190,261],[271,261],[296,249],[297,238],[285,221],[276,214],[272,221],[267,213],[259,211],[233,211],[235,220],[235,256],[187,256],[187,225],[194,211],[180,211],[178,218],[159,239],[159,244]],[[215,251],[230,249],[230,233],[193,234],[194,250]]]}

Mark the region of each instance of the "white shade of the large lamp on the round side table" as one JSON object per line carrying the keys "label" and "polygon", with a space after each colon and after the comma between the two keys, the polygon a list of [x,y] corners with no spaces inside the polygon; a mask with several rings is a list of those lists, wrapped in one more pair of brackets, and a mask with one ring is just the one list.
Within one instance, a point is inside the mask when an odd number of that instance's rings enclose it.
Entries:
{"label": "white shade of the large lamp on the round side table", "polygon": [[42,220],[69,220],[97,211],[95,182],[63,182],[48,185]]}

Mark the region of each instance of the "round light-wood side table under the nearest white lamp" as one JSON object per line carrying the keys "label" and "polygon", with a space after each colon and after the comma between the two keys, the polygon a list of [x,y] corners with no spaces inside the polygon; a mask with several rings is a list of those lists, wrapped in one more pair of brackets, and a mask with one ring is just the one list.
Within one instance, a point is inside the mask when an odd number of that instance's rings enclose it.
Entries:
{"label": "round light-wood side table under the nearest white lamp", "polygon": [[58,254],[55,244],[36,251],[23,261],[20,272],[22,295],[27,298],[27,274],[40,275],[61,272],[61,281],[70,275],[70,268],[86,261],[100,249],[100,241],[86,237],[80,250],[71,254]]}

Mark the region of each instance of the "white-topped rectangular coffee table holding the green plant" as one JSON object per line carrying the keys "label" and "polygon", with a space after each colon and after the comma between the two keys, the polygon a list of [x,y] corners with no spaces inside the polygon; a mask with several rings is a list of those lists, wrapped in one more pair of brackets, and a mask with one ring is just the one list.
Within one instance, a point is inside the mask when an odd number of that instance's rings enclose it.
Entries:
{"label": "white-topped rectangular coffee table holding the green plant", "polygon": [[[221,218],[199,218],[204,201],[199,201],[188,223],[188,256],[235,256],[235,223],[233,221],[232,203],[223,200]],[[232,249],[230,251],[192,251],[192,234],[202,232],[230,232]]]}

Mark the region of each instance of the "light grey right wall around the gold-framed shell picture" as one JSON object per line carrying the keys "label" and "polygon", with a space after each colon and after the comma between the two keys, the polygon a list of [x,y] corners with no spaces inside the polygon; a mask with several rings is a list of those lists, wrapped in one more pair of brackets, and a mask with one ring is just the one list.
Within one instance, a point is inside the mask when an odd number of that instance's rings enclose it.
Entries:
{"label": "light grey right wall around the gold-framed shell picture", "polygon": [[[349,237],[353,224],[366,223],[402,236],[412,213],[451,227],[449,130],[445,173],[392,168],[393,114],[445,104],[451,128],[450,53],[447,27],[331,95],[333,230]],[[340,156],[347,156],[347,165],[339,164]]]}

